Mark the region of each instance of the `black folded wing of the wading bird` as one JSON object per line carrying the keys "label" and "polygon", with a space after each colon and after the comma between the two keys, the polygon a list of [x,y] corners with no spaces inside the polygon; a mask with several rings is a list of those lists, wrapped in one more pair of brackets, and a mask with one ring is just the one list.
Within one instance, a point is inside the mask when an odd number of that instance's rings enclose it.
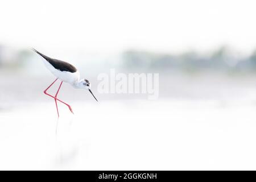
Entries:
{"label": "black folded wing of the wading bird", "polygon": [[48,61],[49,64],[51,64],[55,69],[59,69],[60,71],[66,71],[75,73],[77,71],[76,67],[74,67],[72,64],[69,64],[65,61],[52,59],[51,57],[48,57],[46,55],[43,55],[42,53],[36,51],[36,49],[32,48],[33,51],[38,53],[40,56],[42,56],[44,59]]}

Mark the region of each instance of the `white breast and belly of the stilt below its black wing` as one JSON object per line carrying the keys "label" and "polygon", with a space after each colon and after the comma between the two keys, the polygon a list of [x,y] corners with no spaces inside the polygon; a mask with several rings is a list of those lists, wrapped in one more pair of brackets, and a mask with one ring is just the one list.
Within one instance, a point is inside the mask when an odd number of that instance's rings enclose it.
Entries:
{"label": "white breast and belly of the stilt below its black wing", "polygon": [[49,64],[47,60],[43,59],[43,62],[44,65],[46,65],[46,68],[48,68],[49,71],[52,72],[52,74],[59,78],[61,81],[68,82],[71,85],[75,85],[77,82],[79,82],[79,71],[76,71],[75,73],[60,71],[59,69],[56,69],[51,64]]}

